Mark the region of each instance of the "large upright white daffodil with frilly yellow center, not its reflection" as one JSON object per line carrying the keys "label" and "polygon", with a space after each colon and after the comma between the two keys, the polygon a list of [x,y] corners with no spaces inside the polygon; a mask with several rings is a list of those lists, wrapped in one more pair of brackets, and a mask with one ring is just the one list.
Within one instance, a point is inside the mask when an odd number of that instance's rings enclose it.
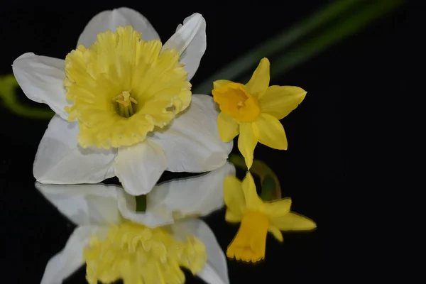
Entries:
{"label": "large upright white daffodil with frilly yellow center, not its reflection", "polygon": [[97,183],[117,176],[148,193],[164,170],[202,173],[224,165],[232,143],[217,130],[212,97],[189,80],[206,49],[200,13],[161,43],[128,8],[94,16],[65,60],[25,53],[12,65],[29,99],[55,111],[40,141],[38,182]]}

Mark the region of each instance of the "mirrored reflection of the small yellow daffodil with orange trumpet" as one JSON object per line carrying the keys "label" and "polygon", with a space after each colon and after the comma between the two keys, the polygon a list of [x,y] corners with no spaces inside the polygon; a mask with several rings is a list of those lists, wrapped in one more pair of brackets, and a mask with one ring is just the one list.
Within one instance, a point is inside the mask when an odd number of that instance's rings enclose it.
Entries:
{"label": "mirrored reflection of the small yellow daffodil with orange trumpet", "polygon": [[[242,188],[242,190],[241,190]],[[316,228],[315,222],[290,212],[291,199],[263,202],[258,197],[250,172],[243,182],[234,176],[224,181],[226,222],[241,222],[238,233],[229,244],[226,256],[246,262],[265,258],[268,231],[283,241],[281,231],[306,231]]]}

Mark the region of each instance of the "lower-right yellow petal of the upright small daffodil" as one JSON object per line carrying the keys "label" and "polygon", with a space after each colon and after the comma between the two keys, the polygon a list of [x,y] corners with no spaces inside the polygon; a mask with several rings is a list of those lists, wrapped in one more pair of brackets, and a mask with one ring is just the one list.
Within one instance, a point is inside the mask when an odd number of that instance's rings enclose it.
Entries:
{"label": "lower-right yellow petal of the upright small daffodil", "polygon": [[261,114],[256,121],[259,143],[278,150],[287,150],[287,137],[283,124],[270,114]]}

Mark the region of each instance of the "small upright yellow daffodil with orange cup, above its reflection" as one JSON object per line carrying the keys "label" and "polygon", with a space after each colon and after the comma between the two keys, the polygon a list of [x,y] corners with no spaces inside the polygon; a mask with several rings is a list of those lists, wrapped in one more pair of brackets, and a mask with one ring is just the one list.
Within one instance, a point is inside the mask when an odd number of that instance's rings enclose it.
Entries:
{"label": "small upright yellow daffodil with orange cup, above its reflection", "polygon": [[263,58],[247,84],[217,80],[213,83],[214,102],[221,113],[217,118],[219,136],[224,142],[239,135],[238,148],[248,168],[253,164],[256,144],[287,150],[287,137],[280,119],[290,114],[306,91],[293,86],[269,86],[269,60]]}

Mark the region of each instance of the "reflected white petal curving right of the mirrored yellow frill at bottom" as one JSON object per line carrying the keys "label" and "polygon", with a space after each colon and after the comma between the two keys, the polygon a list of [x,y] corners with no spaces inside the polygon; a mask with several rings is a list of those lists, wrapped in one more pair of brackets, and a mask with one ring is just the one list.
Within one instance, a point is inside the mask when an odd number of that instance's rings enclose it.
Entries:
{"label": "reflected white petal curving right of the mirrored yellow frill at bottom", "polygon": [[200,219],[178,222],[173,228],[178,237],[182,237],[186,232],[196,236],[206,246],[207,263],[197,276],[209,284],[229,284],[225,254],[217,243],[212,229]]}

